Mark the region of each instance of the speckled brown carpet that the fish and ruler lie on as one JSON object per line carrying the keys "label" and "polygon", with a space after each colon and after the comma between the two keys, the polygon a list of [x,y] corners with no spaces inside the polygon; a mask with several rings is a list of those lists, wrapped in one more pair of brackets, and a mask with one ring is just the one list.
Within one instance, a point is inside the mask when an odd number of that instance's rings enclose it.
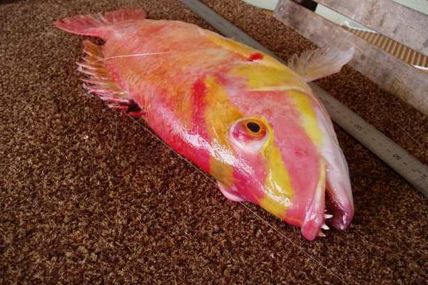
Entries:
{"label": "speckled brown carpet that the fish and ruler lie on", "polygon": [[[205,2],[284,58],[313,48],[240,1]],[[208,27],[173,0],[0,5],[1,284],[427,284],[427,198],[340,128],[355,219],[307,242],[86,96],[83,37],[53,23],[123,6]],[[351,68],[320,85],[428,162],[422,114]]]}

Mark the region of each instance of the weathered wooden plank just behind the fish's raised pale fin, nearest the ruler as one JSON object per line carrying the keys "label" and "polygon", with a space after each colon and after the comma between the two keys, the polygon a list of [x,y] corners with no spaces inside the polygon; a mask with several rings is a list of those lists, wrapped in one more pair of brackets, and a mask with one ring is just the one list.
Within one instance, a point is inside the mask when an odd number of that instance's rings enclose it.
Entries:
{"label": "weathered wooden plank just behind the fish's raised pale fin, nearest the ruler", "polygon": [[354,46],[355,56],[350,66],[428,115],[427,74],[291,0],[280,0],[274,17],[317,46],[340,49]]}

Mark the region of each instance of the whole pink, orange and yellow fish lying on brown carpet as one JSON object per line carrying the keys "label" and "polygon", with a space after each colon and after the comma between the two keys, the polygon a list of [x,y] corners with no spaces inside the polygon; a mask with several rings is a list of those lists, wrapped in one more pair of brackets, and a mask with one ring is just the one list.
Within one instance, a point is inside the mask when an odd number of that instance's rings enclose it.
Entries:
{"label": "whole pink, orange and yellow fish lying on brown carpet", "polygon": [[143,9],[71,16],[55,26],[83,41],[83,87],[146,124],[213,177],[223,195],[300,227],[307,240],[346,229],[350,174],[325,108],[307,84],[354,53],[317,49],[282,64],[267,53]]}

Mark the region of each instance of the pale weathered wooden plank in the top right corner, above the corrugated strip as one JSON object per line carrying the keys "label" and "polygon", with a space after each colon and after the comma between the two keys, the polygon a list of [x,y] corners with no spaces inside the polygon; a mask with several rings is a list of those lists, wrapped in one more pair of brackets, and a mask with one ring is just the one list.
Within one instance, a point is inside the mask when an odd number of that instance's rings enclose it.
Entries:
{"label": "pale weathered wooden plank in the top right corner, above the corrugated strip", "polygon": [[419,11],[392,0],[314,1],[428,56],[428,16]]}

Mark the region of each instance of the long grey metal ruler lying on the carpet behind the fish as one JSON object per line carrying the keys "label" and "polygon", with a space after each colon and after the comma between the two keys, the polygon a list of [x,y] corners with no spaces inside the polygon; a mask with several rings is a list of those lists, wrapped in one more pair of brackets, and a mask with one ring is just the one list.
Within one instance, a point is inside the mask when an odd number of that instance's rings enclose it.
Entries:
{"label": "long grey metal ruler lying on the carpet behind the fish", "polygon": [[[220,33],[228,38],[233,38],[236,41],[252,46],[264,53],[268,53],[275,57],[278,61],[286,64],[281,58],[278,58],[275,53],[272,53],[267,48],[262,46],[254,38],[248,36],[247,33],[240,28],[231,24],[215,11],[198,0],[179,0],[181,3],[188,6],[195,14],[204,19],[211,26],[216,28]],[[389,167],[392,167],[399,175],[404,177],[417,190],[428,197],[428,167],[422,164],[416,158],[409,154],[402,147],[387,138],[383,133],[379,132],[372,125],[363,120],[359,115],[352,112],[345,105],[340,103],[335,98],[332,98],[325,90],[322,90],[317,84],[309,83],[310,87],[317,96],[322,100],[332,120],[340,125],[352,137],[361,142],[370,151],[383,160]]]}

